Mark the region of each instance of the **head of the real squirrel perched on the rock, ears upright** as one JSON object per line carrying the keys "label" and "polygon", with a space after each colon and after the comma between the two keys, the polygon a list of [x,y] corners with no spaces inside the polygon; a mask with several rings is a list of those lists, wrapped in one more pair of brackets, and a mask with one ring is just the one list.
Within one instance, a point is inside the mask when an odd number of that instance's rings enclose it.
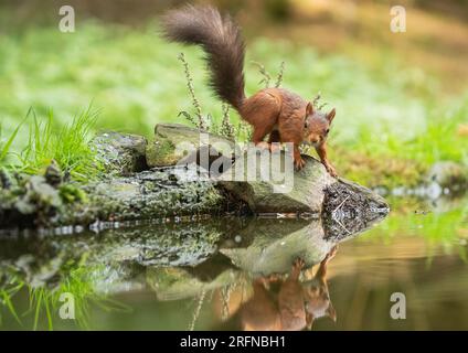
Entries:
{"label": "head of the real squirrel perched on the rock, ears upright", "polygon": [[323,143],[330,132],[331,121],[333,121],[336,110],[329,113],[316,110],[309,101],[306,107],[306,116],[304,118],[304,137],[302,141],[315,147]]}

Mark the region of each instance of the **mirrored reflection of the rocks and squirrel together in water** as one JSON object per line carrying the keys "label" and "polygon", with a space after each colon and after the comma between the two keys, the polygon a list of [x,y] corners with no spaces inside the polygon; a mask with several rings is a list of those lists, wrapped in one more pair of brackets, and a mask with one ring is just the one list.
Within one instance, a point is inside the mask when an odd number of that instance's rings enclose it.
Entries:
{"label": "mirrored reflection of the rocks and squirrel together in water", "polygon": [[321,220],[217,218],[98,235],[3,236],[0,291],[8,293],[11,307],[21,290],[35,297],[40,292],[49,301],[38,302],[38,312],[46,312],[49,322],[65,289],[81,303],[152,290],[158,302],[198,302],[187,313],[191,322],[180,323],[181,329],[198,328],[203,307],[219,318],[212,329],[302,330],[319,318],[336,319],[327,264],[338,243],[359,233],[333,237],[323,228]]}

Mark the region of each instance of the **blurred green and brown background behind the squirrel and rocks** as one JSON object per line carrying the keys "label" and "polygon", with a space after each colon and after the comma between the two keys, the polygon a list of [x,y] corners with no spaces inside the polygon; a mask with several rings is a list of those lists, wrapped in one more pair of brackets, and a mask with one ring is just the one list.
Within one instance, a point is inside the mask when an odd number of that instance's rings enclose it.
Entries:
{"label": "blurred green and brown background behind the squirrel and rocks", "polygon": [[[370,186],[412,185],[432,163],[468,164],[468,1],[400,1],[405,33],[390,31],[391,1],[202,1],[230,11],[247,42],[247,94],[284,61],[283,86],[337,108],[331,161],[342,176]],[[185,54],[203,114],[222,119],[206,87],[201,51],[158,35],[158,17],[180,1],[14,1],[0,4],[0,124],[3,146],[34,109],[53,111],[60,129],[89,105],[93,129],[143,133],[187,122],[193,113]],[[59,30],[63,4],[75,32]],[[231,111],[233,122],[238,117]],[[8,159],[28,143],[28,117]],[[1,147],[1,146],[0,146]]]}

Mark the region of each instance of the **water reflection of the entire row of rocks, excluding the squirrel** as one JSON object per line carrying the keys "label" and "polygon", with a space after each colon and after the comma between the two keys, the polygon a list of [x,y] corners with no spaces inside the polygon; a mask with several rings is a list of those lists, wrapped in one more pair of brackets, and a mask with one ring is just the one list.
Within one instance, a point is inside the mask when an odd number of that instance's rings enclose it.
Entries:
{"label": "water reflection of the entire row of rocks, excluding the squirrel", "polygon": [[[57,288],[70,270],[99,292],[149,285],[160,300],[195,297],[258,275],[287,274],[298,257],[306,268],[355,236],[327,236],[320,220],[212,218],[146,222],[106,228],[96,236],[35,234],[0,237],[0,285],[10,272],[28,285]],[[177,267],[177,268],[176,268]],[[246,276],[247,275],[247,276]]]}

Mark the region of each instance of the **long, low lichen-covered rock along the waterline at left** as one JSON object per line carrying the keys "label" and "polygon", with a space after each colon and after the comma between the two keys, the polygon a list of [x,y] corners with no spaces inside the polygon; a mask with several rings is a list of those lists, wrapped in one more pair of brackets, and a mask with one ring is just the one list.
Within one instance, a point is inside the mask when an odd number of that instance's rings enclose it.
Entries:
{"label": "long, low lichen-covered rock along the waterline at left", "polygon": [[215,215],[227,202],[214,182],[199,180],[194,164],[109,176],[85,185],[62,183],[59,189],[41,175],[19,178],[14,186],[0,189],[0,228]]}

